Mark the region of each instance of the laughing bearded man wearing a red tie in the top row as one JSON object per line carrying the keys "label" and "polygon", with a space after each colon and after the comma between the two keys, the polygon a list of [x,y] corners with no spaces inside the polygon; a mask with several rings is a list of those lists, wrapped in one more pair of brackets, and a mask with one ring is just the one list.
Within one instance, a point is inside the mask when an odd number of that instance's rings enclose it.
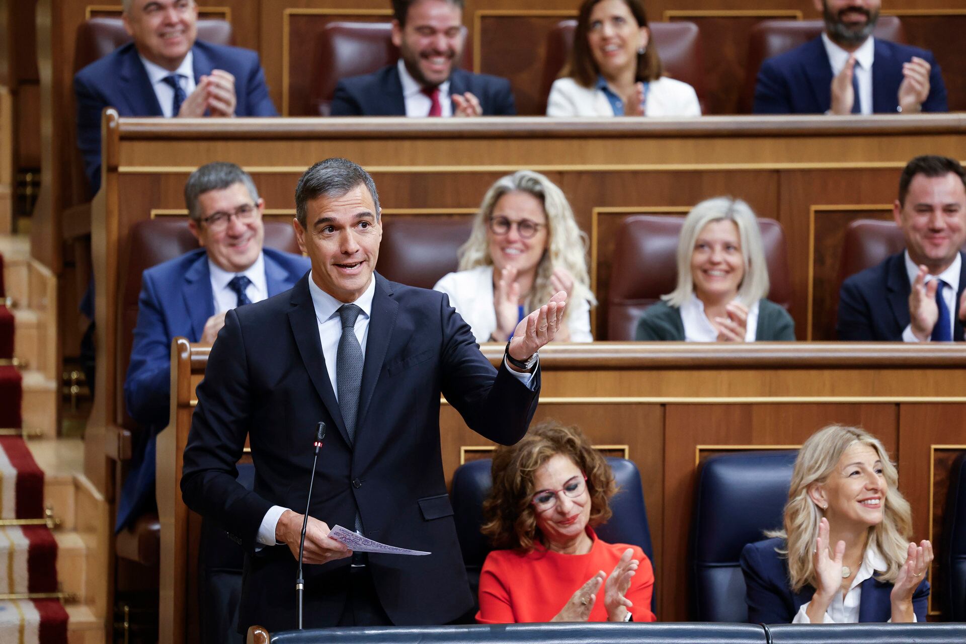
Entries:
{"label": "laughing bearded man wearing a red tie in the top row", "polygon": [[339,81],[332,116],[512,116],[505,78],[457,68],[466,29],[463,0],[393,0],[392,43],[400,59]]}

